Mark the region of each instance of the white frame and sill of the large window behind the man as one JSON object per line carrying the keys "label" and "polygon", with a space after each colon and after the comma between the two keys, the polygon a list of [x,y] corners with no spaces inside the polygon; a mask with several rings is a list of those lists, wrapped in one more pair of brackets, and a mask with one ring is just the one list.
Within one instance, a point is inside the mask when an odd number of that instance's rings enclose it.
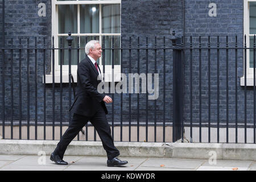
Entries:
{"label": "white frame and sill of the large window behind the man", "polygon": [[[99,5],[100,8],[100,32],[98,34],[80,34],[80,6],[77,7],[77,34],[72,34],[71,36],[99,36],[100,44],[102,45],[102,36],[120,36],[121,38],[121,21],[120,21],[120,33],[119,34],[103,34],[102,31],[102,23],[101,23],[101,5],[102,4],[119,4],[120,5],[120,18],[121,18],[121,0],[95,0],[95,1],[57,1],[52,0],[52,36],[54,36],[54,45],[55,47],[59,46],[59,36],[68,36],[68,34],[59,34],[58,30],[58,5]],[[71,32],[72,33],[72,32]],[[81,39],[80,39],[81,40]],[[63,40],[66,41],[66,40]],[[76,45],[75,45],[76,47]],[[84,51],[84,50],[80,50]],[[102,58],[102,57],[101,57]],[[100,58],[100,69],[103,72],[103,65],[102,65],[102,59]],[[52,57],[51,57],[52,59]],[[84,58],[81,58],[81,60]],[[80,60],[80,61],[81,61]],[[52,61],[51,61],[51,68],[52,68]],[[63,78],[62,82],[69,82],[68,78],[68,65],[63,65],[62,67],[63,71]],[[52,69],[51,69],[52,70]],[[59,65],[59,51],[55,51],[55,82],[60,83],[60,65]],[[112,65],[105,65],[105,75],[110,77],[105,77],[105,81],[112,81]],[[71,65],[71,73],[74,77],[74,81],[77,82],[77,65]],[[120,81],[121,73],[121,65],[114,65],[114,81]],[[44,81],[43,81],[44,82]],[[52,83],[52,71],[50,75],[46,75],[46,84]]]}

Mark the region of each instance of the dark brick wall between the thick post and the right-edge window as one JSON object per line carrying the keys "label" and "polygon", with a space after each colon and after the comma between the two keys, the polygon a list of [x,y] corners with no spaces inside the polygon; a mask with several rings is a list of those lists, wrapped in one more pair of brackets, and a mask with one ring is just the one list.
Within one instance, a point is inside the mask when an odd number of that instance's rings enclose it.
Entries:
{"label": "dark brick wall between the thick post and the right-edge window", "polygon": [[[216,3],[217,16],[209,16],[209,3]],[[193,37],[193,47],[199,47],[199,36],[203,47],[208,47],[208,36],[210,46],[217,46],[217,36],[220,36],[220,47],[226,47],[226,36],[228,36],[229,47],[235,46],[235,37],[238,36],[238,47],[243,46],[243,1],[186,1],[185,0],[185,46],[189,47],[190,36]],[[184,118],[190,122],[190,54],[185,51],[185,110]],[[208,50],[202,51],[201,57],[202,76],[202,115],[201,121],[208,123]],[[193,52],[192,60],[192,90],[193,90],[193,122],[199,123],[199,51]],[[235,70],[235,53],[229,50],[229,122],[235,121],[235,82],[238,82],[238,122],[244,122],[244,93],[240,86],[240,77],[243,76],[243,52],[238,51],[238,69]],[[235,73],[238,77],[235,78]],[[220,122],[226,123],[226,50],[220,51]],[[217,121],[217,51],[211,51],[210,56],[210,92],[211,92],[211,122]],[[248,88],[247,88],[248,89]],[[249,88],[251,89],[251,88]],[[247,122],[253,119],[253,94],[247,93]]]}

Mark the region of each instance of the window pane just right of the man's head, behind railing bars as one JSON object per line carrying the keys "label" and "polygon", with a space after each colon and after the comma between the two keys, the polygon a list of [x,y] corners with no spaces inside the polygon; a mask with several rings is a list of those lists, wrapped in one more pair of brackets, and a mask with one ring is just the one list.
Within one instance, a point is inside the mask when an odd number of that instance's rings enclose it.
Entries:
{"label": "window pane just right of the man's head, behind railing bars", "polygon": [[[112,36],[105,36],[105,48],[112,48]],[[120,36],[114,36],[114,48],[120,48]],[[114,56],[114,65],[120,65],[120,55],[120,49],[115,49],[114,55],[112,55],[111,49],[105,49],[105,65],[112,65],[112,56]],[[103,61],[102,57],[102,64]]]}

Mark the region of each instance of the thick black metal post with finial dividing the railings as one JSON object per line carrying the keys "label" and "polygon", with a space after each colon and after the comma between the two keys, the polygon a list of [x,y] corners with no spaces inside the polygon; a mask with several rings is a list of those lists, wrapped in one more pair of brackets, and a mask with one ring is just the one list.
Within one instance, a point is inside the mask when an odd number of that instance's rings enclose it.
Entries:
{"label": "thick black metal post with finial dividing the railings", "polygon": [[181,138],[181,122],[183,119],[183,60],[181,59],[181,46],[178,42],[181,40],[172,32],[173,46],[173,124],[172,124],[172,142]]}

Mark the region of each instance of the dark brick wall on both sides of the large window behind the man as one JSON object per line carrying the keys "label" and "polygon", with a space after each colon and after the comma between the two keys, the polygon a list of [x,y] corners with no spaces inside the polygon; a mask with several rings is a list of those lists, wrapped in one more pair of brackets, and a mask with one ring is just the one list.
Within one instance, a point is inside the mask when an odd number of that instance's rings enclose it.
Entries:
{"label": "dark brick wall on both sides of the large window behind the man", "polygon": [[[38,16],[38,4],[46,3],[46,17]],[[146,44],[148,36],[148,46],[154,46],[155,36],[157,45],[162,46],[163,36],[166,36],[166,46],[170,44],[170,32],[176,30],[179,35],[182,31],[182,2],[181,1],[122,1],[122,36],[123,46],[128,46],[129,36],[132,37],[133,45],[137,46],[137,37],[141,38],[141,46]],[[19,39],[22,39],[22,47],[27,47],[27,38],[30,38],[30,45],[34,46],[35,36],[38,39],[38,47],[43,47],[43,38],[46,38],[46,47],[51,47],[51,2],[50,1],[6,1],[6,45],[11,44],[18,47]],[[47,51],[46,71],[51,71],[51,52]],[[137,73],[137,52],[133,51],[131,57],[132,72]],[[124,51],[123,72],[128,73],[129,52]],[[35,60],[34,51],[30,52],[30,120],[35,119]],[[163,121],[163,51],[157,52],[158,72],[160,77],[160,93],[156,102],[157,122]],[[166,122],[171,121],[171,90],[172,90],[172,60],[171,52],[166,52]],[[14,52],[14,120],[19,118],[19,52]],[[146,73],[145,51],[141,51],[141,73]],[[148,52],[148,73],[154,73],[154,51]],[[10,51],[6,51],[5,60],[5,117],[10,119],[11,96],[10,96]],[[43,52],[38,52],[38,122],[43,122]],[[55,121],[60,119],[60,88],[55,85]],[[2,89],[0,91],[2,95]],[[110,94],[110,96],[112,96]],[[52,122],[52,85],[46,88],[46,119]],[[114,121],[120,121],[120,94],[114,94]],[[129,121],[129,95],[123,94],[123,122]],[[131,121],[137,122],[137,94],[132,94],[131,98]],[[68,122],[68,87],[64,86],[63,93],[63,122]],[[108,105],[109,122],[112,122],[112,105]],[[154,101],[148,101],[148,122],[152,122]],[[140,120],[146,119],[146,94],[140,94]],[[22,51],[22,119],[27,119],[27,50]]]}

